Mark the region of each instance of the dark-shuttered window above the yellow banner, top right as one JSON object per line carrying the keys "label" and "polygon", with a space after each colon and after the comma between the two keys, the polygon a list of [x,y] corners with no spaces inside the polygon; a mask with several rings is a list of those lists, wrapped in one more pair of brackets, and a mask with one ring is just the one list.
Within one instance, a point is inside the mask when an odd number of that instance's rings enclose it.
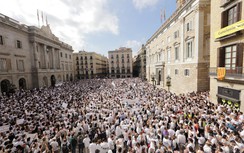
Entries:
{"label": "dark-shuttered window above the yellow banner, top right", "polygon": [[224,28],[226,26],[232,25],[241,20],[241,3],[237,3],[233,7],[225,10],[221,14],[221,27]]}

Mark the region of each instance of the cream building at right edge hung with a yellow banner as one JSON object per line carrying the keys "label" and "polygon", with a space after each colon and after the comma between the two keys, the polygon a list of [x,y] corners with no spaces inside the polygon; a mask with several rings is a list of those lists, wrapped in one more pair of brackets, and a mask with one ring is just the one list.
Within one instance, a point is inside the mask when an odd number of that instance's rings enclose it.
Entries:
{"label": "cream building at right edge hung with a yellow banner", "polygon": [[[210,100],[244,111],[243,0],[211,1]],[[221,76],[221,69],[225,75]],[[221,70],[221,71],[220,71]]]}

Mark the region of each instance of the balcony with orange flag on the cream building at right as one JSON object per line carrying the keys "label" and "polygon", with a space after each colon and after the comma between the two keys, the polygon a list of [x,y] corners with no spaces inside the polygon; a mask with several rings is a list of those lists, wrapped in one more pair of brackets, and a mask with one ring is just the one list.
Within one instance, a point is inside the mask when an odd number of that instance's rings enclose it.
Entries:
{"label": "balcony with orange flag on the cream building at right", "polygon": [[[209,76],[217,78],[218,67],[209,68]],[[226,70],[225,78],[222,81],[244,84],[244,67],[236,67],[235,70]]]}

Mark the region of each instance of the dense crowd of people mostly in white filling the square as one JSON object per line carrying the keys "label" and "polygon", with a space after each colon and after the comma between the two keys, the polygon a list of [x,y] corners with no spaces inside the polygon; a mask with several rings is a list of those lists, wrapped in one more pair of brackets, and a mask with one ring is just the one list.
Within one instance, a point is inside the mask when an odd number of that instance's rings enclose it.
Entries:
{"label": "dense crowd of people mostly in white filling the square", "polygon": [[0,97],[0,153],[242,153],[244,115],[208,92],[91,79]]}

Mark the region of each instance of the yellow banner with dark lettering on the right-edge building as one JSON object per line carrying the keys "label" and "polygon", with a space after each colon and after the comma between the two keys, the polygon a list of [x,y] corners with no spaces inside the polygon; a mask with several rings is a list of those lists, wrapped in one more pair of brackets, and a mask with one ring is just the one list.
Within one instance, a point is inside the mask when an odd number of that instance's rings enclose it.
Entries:
{"label": "yellow banner with dark lettering on the right-edge building", "polygon": [[243,30],[244,29],[244,20],[241,20],[239,22],[236,22],[232,25],[229,25],[223,29],[220,29],[219,31],[214,33],[215,39],[227,36],[229,34],[235,33],[237,31]]}

